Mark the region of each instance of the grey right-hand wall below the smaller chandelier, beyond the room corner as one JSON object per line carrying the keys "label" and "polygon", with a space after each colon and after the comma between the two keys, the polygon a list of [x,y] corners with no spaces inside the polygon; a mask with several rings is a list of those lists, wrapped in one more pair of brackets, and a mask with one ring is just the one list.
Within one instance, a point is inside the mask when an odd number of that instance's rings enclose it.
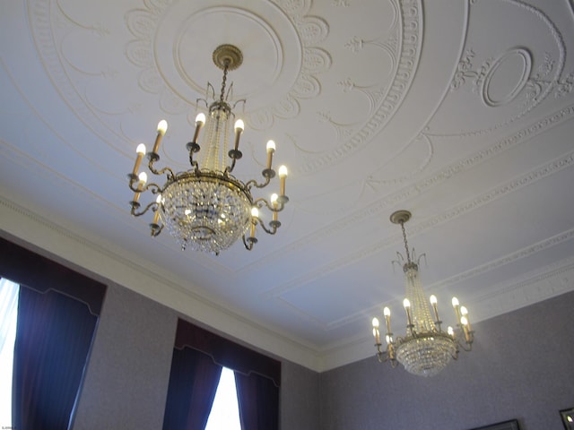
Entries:
{"label": "grey right-hand wall below the smaller chandelier, beyond the room corner", "polygon": [[375,357],[320,374],[322,430],[465,430],[518,418],[563,430],[574,406],[574,293],[474,324],[471,353],[433,378]]}

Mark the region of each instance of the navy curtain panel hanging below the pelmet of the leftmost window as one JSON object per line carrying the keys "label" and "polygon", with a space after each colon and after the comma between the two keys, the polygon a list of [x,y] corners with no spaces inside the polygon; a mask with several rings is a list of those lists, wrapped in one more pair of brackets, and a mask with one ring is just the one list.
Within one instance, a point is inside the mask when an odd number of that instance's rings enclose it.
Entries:
{"label": "navy curtain panel hanging below the pelmet of the leftmost window", "polygon": [[13,360],[13,427],[66,429],[98,317],[55,291],[21,287]]}

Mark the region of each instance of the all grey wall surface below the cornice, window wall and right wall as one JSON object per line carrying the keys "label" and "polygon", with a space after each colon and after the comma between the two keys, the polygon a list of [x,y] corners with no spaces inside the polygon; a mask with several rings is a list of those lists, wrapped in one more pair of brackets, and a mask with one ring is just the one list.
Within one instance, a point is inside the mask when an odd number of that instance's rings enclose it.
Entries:
{"label": "all grey wall surface below the cornice, window wall and right wall", "polygon": [[[282,430],[465,430],[518,418],[561,430],[574,406],[574,293],[474,324],[476,342],[434,378],[375,357],[317,374],[283,361]],[[159,429],[178,314],[111,285],[74,430]]]}

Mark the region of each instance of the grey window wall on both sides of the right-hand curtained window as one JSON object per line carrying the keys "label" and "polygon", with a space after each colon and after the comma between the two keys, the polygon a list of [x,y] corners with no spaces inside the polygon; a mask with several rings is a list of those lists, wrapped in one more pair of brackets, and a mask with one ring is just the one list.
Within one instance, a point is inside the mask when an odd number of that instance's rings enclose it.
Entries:
{"label": "grey window wall on both sides of the right-hand curtained window", "polygon": [[[74,430],[161,429],[178,316],[133,291],[109,286]],[[316,372],[283,361],[282,430],[319,428],[318,387]]]}

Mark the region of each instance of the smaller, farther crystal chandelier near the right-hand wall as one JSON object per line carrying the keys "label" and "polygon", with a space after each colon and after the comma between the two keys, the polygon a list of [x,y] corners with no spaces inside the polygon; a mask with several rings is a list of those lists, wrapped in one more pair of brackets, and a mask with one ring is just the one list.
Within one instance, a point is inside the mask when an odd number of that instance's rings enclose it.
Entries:
{"label": "smaller, farther crystal chandelier near the right-hand wall", "polygon": [[[448,327],[447,331],[442,330],[442,321],[439,318],[437,307],[437,297],[431,296],[431,307],[428,305],[424,291],[422,290],[421,279],[419,278],[419,262],[414,255],[411,260],[411,253],[406,242],[404,223],[411,219],[411,212],[396,211],[391,215],[391,222],[400,224],[403,230],[405,257],[398,255],[399,261],[404,262],[404,280],[406,283],[406,298],[403,305],[406,312],[406,335],[404,337],[393,337],[391,331],[391,311],[385,307],[383,314],[387,325],[387,350],[381,350],[380,332],[378,331],[378,319],[373,318],[373,336],[375,337],[375,347],[377,348],[378,361],[381,363],[390,361],[395,367],[397,362],[411,374],[421,376],[433,376],[444,369],[450,359],[457,359],[459,347],[465,351],[470,351],[474,340],[474,331],[468,320],[468,311],[465,306],[458,303],[457,297],[452,298],[452,305],[457,315],[457,330]],[[434,320],[431,317],[434,315]]]}

